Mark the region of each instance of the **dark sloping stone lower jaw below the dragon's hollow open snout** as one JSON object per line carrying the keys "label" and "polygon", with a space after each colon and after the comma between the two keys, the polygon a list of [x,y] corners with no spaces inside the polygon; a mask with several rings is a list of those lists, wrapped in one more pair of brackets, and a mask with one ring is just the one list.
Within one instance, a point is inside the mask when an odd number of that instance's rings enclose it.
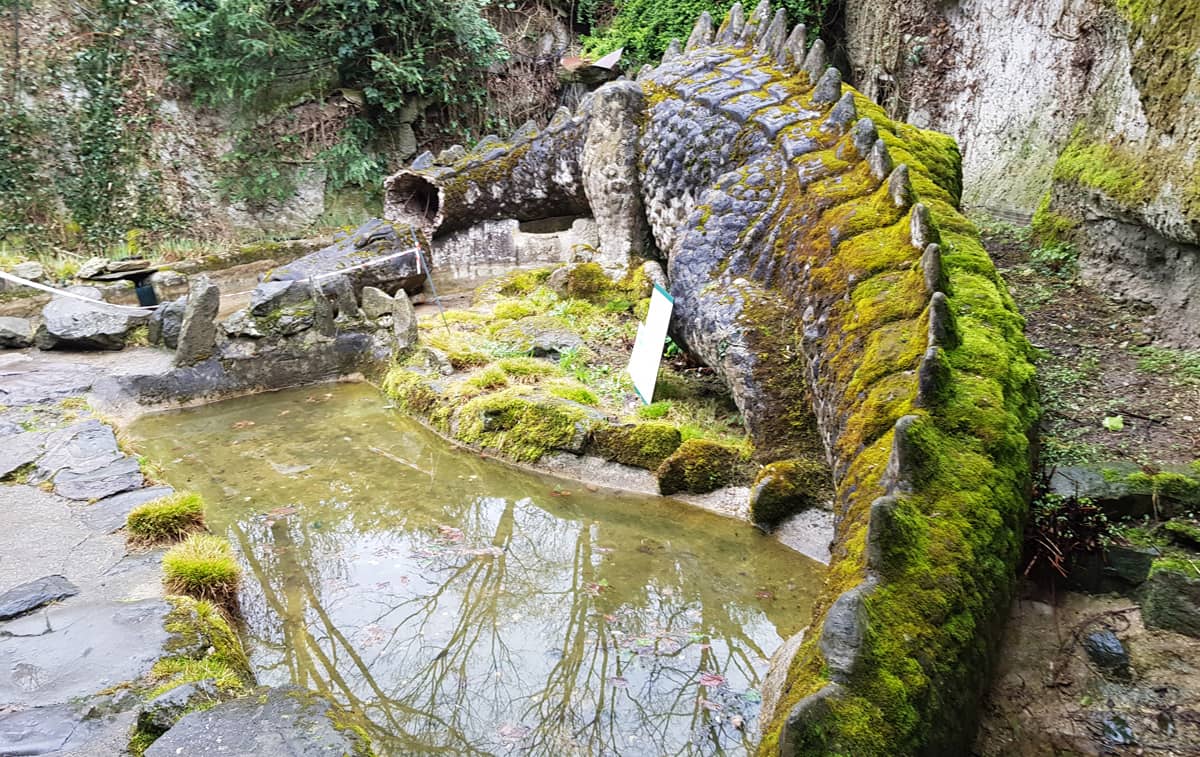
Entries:
{"label": "dark sloping stone lower jaw below the dragon's hollow open snout", "polygon": [[332,286],[334,274],[344,271],[356,292],[376,287],[415,294],[426,274],[416,251],[421,245],[424,238],[416,229],[372,218],[329,247],[272,270],[266,281],[313,280],[325,289]]}

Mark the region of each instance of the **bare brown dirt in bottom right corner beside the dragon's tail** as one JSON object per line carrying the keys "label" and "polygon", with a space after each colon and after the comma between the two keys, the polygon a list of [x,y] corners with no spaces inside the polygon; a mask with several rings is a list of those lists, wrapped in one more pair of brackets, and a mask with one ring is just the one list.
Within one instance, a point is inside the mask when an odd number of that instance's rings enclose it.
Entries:
{"label": "bare brown dirt in bottom right corner beside the dragon's tail", "polygon": [[[1104,629],[1129,653],[1128,680],[1105,677],[1084,650],[1082,639]],[[1146,629],[1122,596],[1021,599],[976,755],[1200,755],[1200,639]]]}

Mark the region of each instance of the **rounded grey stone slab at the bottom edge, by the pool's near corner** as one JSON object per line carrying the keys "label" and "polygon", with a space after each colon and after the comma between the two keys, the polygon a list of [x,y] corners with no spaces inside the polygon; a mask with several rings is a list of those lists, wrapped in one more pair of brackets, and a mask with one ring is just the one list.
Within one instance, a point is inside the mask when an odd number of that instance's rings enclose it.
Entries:
{"label": "rounded grey stone slab at the bottom edge, by the pool's near corner", "polygon": [[256,755],[318,757],[360,753],[350,732],[329,720],[329,702],[296,689],[266,689],[185,715],[146,757]]}

